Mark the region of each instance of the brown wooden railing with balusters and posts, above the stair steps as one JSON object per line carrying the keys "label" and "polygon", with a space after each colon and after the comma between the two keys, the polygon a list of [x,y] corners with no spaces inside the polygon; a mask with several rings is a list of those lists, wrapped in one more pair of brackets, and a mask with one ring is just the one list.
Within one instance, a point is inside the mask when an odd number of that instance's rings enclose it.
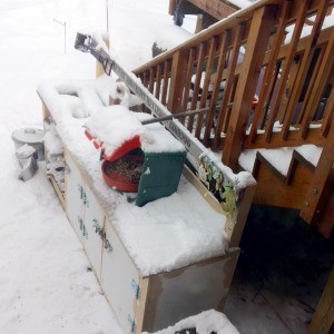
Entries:
{"label": "brown wooden railing with balusters and posts, above the stair steps", "polygon": [[323,26],[333,2],[258,1],[135,73],[173,114],[207,108],[181,122],[233,169],[244,148],[323,145],[334,116],[334,28]]}

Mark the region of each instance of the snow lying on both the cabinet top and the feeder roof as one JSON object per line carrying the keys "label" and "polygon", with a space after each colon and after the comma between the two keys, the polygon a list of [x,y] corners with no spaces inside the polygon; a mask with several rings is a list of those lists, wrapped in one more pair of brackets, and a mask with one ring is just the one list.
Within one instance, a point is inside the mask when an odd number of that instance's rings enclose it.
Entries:
{"label": "snow lying on both the cabinet top and the feeder roof", "polygon": [[[80,82],[82,87],[86,84],[85,80]],[[91,117],[76,118],[71,100],[63,100],[65,96],[48,85],[39,86],[39,95],[53,108],[50,112],[57,120],[57,132],[84,170],[85,179],[106,208],[110,224],[141,275],[171,271],[225,254],[228,247],[224,232],[226,217],[214,210],[193,185],[181,178],[177,193],[169,197],[141,208],[128,203],[127,195],[114,191],[104,183],[99,150],[86,138],[82,125],[104,143],[107,155],[135,135],[140,135],[141,147],[149,153],[184,151],[179,141],[160,124],[143,126],[137,117],[151,116],[132,112],[124,106],[102,107]],[[77,88],[80,85],[75,82]]]}

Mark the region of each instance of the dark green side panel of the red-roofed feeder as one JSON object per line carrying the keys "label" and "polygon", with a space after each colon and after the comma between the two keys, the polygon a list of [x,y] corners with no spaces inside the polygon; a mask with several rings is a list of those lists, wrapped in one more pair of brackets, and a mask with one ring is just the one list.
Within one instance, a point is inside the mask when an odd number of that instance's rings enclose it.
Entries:
{"label": "dark green side panel of the red-roofed feeder", "polygon": [[145,153],[144,168],[136,198],[137,206],[170,196],[177,190],[186,151]]}

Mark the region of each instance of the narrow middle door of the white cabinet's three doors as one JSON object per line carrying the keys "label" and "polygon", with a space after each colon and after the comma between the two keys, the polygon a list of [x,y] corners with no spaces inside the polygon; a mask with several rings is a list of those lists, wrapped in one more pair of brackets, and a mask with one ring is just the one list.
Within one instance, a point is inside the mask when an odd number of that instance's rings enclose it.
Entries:
{"label": "narrow middle door of the white cabinet's three doors", "polygon": [[85,187],[84,196],[84,225],[86,228],[84,246],[92,269],[100,281],[105,213],[88,185]]}

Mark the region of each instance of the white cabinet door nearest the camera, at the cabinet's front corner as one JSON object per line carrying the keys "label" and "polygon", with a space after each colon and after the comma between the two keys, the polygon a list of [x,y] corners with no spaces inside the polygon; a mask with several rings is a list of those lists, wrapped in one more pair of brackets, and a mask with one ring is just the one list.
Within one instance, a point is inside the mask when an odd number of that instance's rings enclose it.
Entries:
{"label": "white cabinet door nearest the camera, at the cabinet's front corner", "polygon": [[135,314],[140,298],[139,274],[108,220],[105,228],[102,289],[125,332],[136,333]]}

